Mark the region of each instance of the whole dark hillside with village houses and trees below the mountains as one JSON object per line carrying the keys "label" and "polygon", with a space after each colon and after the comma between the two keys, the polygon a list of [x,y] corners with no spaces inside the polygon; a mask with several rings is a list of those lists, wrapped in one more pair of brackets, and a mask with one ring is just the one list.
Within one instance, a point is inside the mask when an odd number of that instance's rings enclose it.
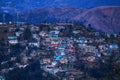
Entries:
{"label": "whole dark hillside with village houses and trees below the mountains", "polygon": [[10,73],[35,62],[42,76],[54,80],[119,80],[120,34],[100,32],[90,24],[0,24],[0,76],[19,80]]}

